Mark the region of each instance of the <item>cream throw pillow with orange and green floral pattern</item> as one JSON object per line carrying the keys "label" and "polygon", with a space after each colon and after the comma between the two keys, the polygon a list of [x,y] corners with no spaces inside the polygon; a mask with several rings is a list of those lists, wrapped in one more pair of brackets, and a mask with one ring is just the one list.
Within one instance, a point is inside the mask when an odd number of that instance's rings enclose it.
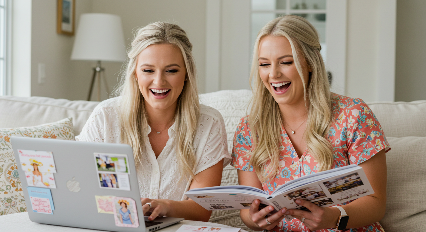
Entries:
{"label": "cream throw pillow with orange and green floral pattern", "polygon": [[0,216],[27,211],[10,143],[12,136],[73,140],[72,118],[39,126],[0,129]]}

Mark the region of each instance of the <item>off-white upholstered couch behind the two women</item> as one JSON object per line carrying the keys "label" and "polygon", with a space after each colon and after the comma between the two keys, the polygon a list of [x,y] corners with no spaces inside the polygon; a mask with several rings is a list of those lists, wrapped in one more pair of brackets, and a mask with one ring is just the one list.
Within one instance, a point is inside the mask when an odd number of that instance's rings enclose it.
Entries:
{"label": "off-white upholstered couch behind the two women", "polygon": [[[201,103],[218,109],[224,117],[229,151],[237,123],[247,114],[250,97],[248,90],[223,90],[200,95]],[[3,109],[0,128],[35,126],[72,117],[74,132],[78,135],[97,104],[48,97],[0,97],[0,109]],[[426,100],[372,102],[368,105],[392,148],[386,154],[388,200],[381,223],[386,232],[426,228]],[[236,170],[227,166],[222,185],[234,184],[238,184]],[[235,210],[214,211],[210,221],[245,227]]]}

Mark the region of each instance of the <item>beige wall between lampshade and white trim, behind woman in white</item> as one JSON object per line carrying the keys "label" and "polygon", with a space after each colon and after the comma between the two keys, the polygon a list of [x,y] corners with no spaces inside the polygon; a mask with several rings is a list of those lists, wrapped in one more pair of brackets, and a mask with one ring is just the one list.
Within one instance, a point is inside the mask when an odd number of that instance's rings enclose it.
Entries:
{"label": "beige wall between lampshade and white trim, behind woman in white", "polygon": [[[133,32],[148,23],[168,21],[187,32],[193,44],[199,92],[204,92],[205,73],[205,0],[93,0],[93,12],[117,14],[123,23],[124,38],[130,43]],[[104,63],[109,83],[117,83],[121,63]]]}

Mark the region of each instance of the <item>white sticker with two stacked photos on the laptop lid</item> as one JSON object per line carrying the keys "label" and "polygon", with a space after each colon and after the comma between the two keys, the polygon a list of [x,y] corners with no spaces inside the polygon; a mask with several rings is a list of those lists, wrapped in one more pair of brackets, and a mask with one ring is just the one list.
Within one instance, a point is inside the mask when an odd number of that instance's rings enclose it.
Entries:
{"label": "white sticker with two stacked photos on the laptop lid", "polygon": [[93,153],[99,187],[130,191],[129,163],[127,155]]}

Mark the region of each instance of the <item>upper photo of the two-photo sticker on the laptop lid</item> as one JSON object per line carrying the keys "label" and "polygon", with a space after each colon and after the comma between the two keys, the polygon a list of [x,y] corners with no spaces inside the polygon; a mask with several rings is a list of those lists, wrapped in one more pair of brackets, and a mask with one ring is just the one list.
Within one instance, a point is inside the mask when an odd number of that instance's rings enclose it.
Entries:
{"label": "upper photo of the two-photo sticker on the laptop lid", "polygon": [[127,155],[95,153],[98,171],[129,173]]}

